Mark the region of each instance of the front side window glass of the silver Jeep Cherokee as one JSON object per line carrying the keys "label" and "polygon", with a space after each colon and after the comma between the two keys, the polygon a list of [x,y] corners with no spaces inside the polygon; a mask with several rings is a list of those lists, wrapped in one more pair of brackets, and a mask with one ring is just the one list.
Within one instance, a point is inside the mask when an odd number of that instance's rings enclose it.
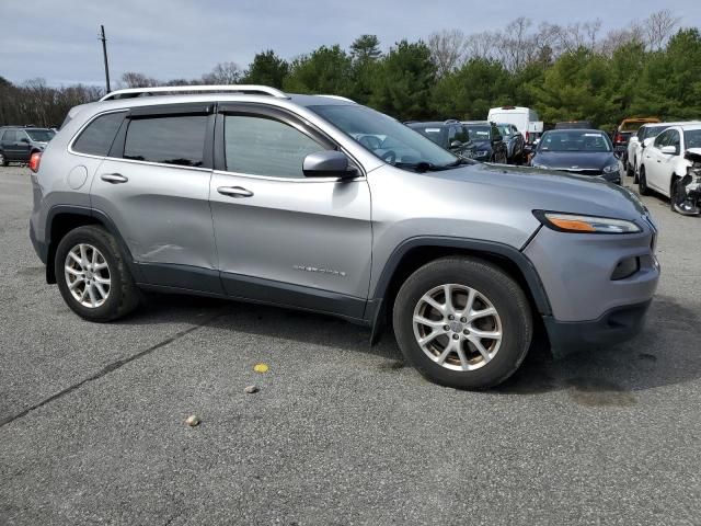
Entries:
{"label": "front side window glass of the silver Jeep Cherokee", "polygon": [[297,128],[262,116],[227,115],[223,134],[229,172],[303,179],[304,158],[325,149]]}

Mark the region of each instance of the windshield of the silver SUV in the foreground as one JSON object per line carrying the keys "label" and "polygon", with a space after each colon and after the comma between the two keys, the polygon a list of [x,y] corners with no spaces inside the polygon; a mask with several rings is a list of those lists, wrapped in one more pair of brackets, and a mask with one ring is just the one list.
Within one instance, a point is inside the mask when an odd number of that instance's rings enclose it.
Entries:
{"label": "windshield of the silver SUV in the foreground", "polygon": [[399,168],[427,169],[459,162],[453,156],[423,135],[392,117],[356,104],[309,106],[364,148]]}

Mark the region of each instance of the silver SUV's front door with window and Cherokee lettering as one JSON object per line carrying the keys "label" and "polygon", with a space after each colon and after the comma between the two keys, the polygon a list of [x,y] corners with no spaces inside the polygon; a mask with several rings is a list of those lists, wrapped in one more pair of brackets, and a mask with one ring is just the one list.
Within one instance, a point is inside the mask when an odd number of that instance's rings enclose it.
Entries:
{"label": "silver SUV's front door with window and Cherokee lettering", "polygon": [[335,145],[297,116],[220,107],[211,213],[230,296],[361,318],[370,278],[364,175],[306,178],[307,155]]}

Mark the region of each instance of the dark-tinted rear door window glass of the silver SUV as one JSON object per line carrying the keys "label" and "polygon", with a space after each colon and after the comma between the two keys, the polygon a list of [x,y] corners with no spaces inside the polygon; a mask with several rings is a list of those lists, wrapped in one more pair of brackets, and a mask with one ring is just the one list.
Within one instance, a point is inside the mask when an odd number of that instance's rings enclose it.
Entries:
{"label": "dark-tinted rear door window glass of the silver SUV", "polygon": [[124,142],[124,158],[180,167],[202,167],[206,115],[135,118]]}

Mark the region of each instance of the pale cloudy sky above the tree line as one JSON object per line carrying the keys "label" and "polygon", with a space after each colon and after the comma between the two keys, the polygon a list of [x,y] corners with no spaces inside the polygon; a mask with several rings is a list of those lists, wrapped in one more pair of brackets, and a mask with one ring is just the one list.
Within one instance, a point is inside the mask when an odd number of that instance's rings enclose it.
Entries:
{"label": "pale cloudy sky above the tree line", "polygon": [[434,31],[502,28],[526,15],[536,24],[600,19],[604,30],[662,8],[682,26],[701,26],[701,0],[0,0],[0,76],[13,82],[102,83],[97,41],[105,25],[111,75],[198,78],[221,61],[241,67],[262,49],[292,58],[322,44],[348,47],[376,34],[383,48]]}

